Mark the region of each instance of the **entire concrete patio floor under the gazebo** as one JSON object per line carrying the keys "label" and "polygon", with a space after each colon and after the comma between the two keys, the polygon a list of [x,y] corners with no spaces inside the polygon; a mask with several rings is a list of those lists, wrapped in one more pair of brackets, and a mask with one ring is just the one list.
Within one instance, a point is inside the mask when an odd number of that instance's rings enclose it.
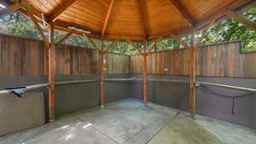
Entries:
{"label": "entire concrete patio floor under the gazebo", "polygon": [[152,103],[125,99],[75,112],[32,130],[0,137],[0,144],[254,144],[254,130]]}

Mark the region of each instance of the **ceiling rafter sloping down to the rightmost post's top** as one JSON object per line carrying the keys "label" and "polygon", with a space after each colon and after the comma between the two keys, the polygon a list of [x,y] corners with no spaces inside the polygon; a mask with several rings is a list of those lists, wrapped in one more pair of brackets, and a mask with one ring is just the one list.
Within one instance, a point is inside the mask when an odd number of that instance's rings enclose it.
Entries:
{"label": "ceiling rafter sloping down to the rightmost post's top", "polygon": [[188,10],[183,6],[182,3],[180,3],[180,1],[177,1],[177,0],[167,0],[167,1],[177,9],[177,12],[183,16],[183,19],[186,20],[186,22],[190,27],[194,27],[194,22],[190,17]]}

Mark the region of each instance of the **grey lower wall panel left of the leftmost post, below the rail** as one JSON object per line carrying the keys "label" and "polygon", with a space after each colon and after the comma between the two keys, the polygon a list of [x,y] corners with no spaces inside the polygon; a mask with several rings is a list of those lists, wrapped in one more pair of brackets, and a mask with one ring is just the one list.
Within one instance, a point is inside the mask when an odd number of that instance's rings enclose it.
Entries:
{"label": "grey lower wall panel left of the leftmost post, below the rail", "polygon": [[0,136],[44,124],[44,94],[30,92],[0,96]]}

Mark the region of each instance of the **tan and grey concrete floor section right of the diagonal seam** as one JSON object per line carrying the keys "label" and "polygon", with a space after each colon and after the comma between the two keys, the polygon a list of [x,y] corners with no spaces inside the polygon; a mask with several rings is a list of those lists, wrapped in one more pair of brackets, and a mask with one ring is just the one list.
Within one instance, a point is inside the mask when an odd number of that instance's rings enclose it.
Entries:
{"label": "tan and grey concrete floor section right of the diagonal seam", "polygon": [[212,118],[180,114],[148,144],[254,144],[256,131]]}

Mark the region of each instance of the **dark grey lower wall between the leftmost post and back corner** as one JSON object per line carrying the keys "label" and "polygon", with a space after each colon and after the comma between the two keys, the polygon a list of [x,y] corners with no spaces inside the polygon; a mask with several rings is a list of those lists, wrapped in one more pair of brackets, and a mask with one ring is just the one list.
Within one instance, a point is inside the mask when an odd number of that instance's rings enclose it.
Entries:
{"label": "dark grey lower wall between the leftmost post and back corner", "polygon": [[[55,81],[95,79],[97,75],[58,75]],[[130,78],[129,74],[111,74],[106,78]],[[105,103],[118,101],[130,96],[129,82],[107,82]],[[55,86],[55,115],[100,106],[100,85],[98,82]]]}

